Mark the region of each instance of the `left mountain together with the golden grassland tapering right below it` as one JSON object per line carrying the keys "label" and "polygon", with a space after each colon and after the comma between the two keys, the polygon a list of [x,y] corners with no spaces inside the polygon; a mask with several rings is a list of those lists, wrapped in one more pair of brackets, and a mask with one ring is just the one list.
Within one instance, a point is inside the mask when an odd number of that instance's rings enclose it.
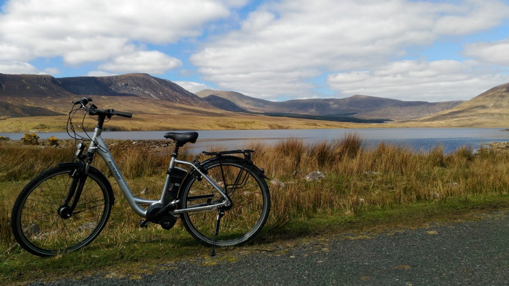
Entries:
{"label": "left mountain together with the golden grassland tapering right below it", "polygon": [[[72,101],[85,96],[93,98],[99,108],[133,113],[132,119],[116,118],[108,122],[107,128],[115,130],[354,126],[349,123],[290,118],[274,121],[271,117],[224,111],[169,80],[147,74],[70,78],[0,74],[0,132],[65,131]],[[84,120],[91,121],[88,117]]]}

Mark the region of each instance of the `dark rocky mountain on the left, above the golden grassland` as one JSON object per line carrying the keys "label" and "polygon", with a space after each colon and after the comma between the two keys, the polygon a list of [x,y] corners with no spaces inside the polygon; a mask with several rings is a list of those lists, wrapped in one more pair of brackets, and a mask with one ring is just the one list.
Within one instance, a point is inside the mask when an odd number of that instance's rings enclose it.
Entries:
{"label": "dark rocky mountain on the left, above the golden grassland", "polygon": [[64,115],[80,97],[131,97],[211,108],[178,84],[148,74],[63,77],[0,73],[0,119]]}

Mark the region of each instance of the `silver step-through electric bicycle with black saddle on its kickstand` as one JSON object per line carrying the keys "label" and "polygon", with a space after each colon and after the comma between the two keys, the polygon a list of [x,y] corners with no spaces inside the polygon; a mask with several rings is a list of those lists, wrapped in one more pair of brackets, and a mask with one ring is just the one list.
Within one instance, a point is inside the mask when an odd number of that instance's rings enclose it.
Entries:
{"label": "silver step-through electric bicycle with black saddle on its kickstand", "polygon": [[[92,166],[97,153],[132,211],[144,218],[140,227],[152,222],[169,230],[180,216],[194,239],[212,246],[211,255],[215,255],[216,246],[247,243],[262,230],[270,211],[265,181],[269,178],[251,161],[253,150],[203,152],[211,157],[203,162],[181,161],[177,159],[179,148],[196,142],[198,133],[168,132],[164,137],[172,139],[175,147],[161,196],[158,200],[136,197],[101,137],[106,119],[131,118],[132,113],[98,109],[91,102],[91,98],[74,101],[67,125],[76,142],[78,137],[90,141],[87,152],[80,141],[73,162],[43,171],[22,189],[14,203],[11,227],[26,251],[38,256],[67,253],[88,245],[103,230],[115,197],[109,180]],[[85,111],[83,120],[87,114],[97,116],[92,137],[83,127],[87,138],[74,129],[72,118],[80,109]]]}

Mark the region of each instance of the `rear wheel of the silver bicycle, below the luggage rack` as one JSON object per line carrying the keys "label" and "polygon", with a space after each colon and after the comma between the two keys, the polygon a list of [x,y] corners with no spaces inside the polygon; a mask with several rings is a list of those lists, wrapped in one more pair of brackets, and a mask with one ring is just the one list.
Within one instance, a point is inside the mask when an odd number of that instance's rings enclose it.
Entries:
{"label": "rear wheel of the silver bicycle, below the luggage rack", "polygon": [[[224,209],[216,245],[234,246],[250,241],[261,230],[270,211],[267,183],[251,162],[239,159],[213,160],[205,164],[208,176],[223,188],[232,206]],[[205,179],[190,175],[183,184],[183,208],[218,204],[224,199]],[[205,245],[214,243],[218,209],[181,214],[186,230]]]}

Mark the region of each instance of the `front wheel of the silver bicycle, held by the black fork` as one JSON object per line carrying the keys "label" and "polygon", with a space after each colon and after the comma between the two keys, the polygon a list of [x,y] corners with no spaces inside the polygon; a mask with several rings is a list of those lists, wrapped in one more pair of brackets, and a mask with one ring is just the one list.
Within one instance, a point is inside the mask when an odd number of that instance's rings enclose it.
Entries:
{"label": "front wheel of the silver bicycle, held by the black fork", "polygon": [[[73,166],[47,170],[19,194],[11,216],[14,237],[26,251],[49,256],[79,249],[102,231],[111,211],[108,183],[90,169],[78,204],[69,218],[59,215],[73,180]],[[71,201],[72,202],[72,201]]]}

